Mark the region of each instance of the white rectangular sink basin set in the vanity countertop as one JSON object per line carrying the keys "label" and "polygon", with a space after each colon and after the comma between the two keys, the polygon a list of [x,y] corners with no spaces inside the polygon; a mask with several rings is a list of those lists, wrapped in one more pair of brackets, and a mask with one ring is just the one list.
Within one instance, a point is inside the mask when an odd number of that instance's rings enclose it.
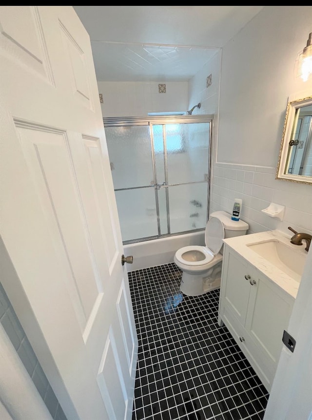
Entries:
{"label": "white rectangular sink basin set in the vanity countertop", "polygon": [[[247,244],[247,247],[261,255],[275,267],[284,271],[297,282],[300,282],[306,262],[304,253],[296,251],[293,247],[287,246],[277,239]],[[304,248],[304,245],[302,247]]]}

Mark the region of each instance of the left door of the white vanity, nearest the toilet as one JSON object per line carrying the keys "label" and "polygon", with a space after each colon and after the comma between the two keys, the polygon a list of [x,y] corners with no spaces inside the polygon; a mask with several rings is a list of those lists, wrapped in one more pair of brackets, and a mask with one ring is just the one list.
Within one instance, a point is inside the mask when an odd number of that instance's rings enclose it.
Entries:
{"label": "left door of the white vanity, nearest the toilet", "polygon": [[251,289],[252,272],[243,258],[224,247],[222,284],[220,293],[219,317],[222,319],[223,309],[227,306],[238,321],[245,325],[249,294]]}

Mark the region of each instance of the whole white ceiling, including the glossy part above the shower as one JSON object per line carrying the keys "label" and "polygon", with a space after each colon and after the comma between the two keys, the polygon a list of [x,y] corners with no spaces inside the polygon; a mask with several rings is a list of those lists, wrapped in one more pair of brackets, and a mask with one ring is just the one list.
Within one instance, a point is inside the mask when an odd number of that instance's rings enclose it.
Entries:
{"label": "whole white ceiling, including the glossy part above the shower", "polygon": [[73,6],[98,81],[187,81],[264,6]]}

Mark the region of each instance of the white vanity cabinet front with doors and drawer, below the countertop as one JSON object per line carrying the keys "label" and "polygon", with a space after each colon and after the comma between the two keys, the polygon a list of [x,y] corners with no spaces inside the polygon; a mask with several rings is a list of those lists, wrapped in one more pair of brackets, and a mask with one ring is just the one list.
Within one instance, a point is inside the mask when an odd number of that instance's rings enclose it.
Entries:
{"label": "white vanity cabinet front with doors and drawer, below the countertop", "polygon": [[218,324],[234,340],[271,391],[294,298],[224,244]]}

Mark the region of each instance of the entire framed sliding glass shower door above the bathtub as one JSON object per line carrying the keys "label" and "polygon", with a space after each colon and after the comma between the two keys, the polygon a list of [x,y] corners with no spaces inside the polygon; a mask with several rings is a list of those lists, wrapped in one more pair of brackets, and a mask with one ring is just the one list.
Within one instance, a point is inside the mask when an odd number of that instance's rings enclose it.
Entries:
{"label": "entire framed sliding glass shower door above the bathtub", "polygon": [[103,121],[123,243],[205,228],[211,116]]}

